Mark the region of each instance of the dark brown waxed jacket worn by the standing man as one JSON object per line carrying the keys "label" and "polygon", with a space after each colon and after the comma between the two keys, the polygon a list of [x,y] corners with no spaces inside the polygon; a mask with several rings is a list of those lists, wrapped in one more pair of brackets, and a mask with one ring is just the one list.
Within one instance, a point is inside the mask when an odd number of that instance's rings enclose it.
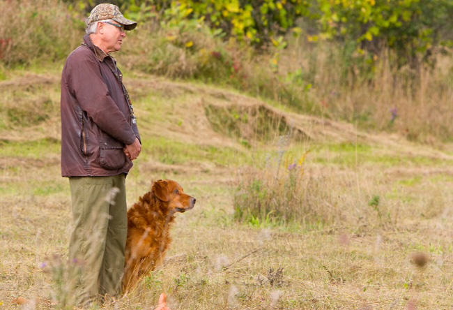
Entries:
{"label": "dark brown waxed jacket worn by the standing man", "polygon": [[[61,175],[128,173],[123,152],[139,131],[116,61],[88,35],[66,59],[61,75]],[[140,138],[139,138],[140,139]]]}

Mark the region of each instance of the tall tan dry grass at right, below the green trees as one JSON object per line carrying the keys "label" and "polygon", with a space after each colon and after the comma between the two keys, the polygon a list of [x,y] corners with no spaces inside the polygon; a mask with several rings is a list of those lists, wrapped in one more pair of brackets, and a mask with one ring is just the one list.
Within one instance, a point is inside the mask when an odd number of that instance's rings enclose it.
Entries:
{"label": "tall tan dry grass at right, below the green trees", "polygon": [[394,54],[383,50],[373,73],[367,74],[360,71],[358,59],[342,56],[341,50],[335,44],[296,40],[280,52],[278,72],[286,76],[300,69],[305,82],[312,84],[314,112],[330,119],[431,144],[451,140],[451,54],[437,54],[433,67],[425,64],[413,71],[397,68]]}

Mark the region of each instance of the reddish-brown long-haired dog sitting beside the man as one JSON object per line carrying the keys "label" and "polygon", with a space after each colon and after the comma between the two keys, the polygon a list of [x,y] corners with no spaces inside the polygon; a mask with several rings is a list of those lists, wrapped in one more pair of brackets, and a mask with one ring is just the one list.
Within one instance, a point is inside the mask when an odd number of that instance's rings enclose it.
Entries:
{"label": "reddish-brown long-haired dog sitting beside the man", "polygon": [[195,201],[177,182],[160,179],[129,209],[123,293],[162,262],[171,242],[169,229],[175,213],[192,209]]}

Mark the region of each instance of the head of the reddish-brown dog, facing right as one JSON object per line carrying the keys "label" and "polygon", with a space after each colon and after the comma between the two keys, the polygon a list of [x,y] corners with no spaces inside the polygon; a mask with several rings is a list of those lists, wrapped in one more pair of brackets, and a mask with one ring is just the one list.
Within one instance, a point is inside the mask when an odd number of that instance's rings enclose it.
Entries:
{"label": "head of the reddish-brown dog, facing right", "polygon": [[170,211],[174,212],[192,209],[197,201],[184,193],[181,185],[171,179],[160,179],[154,182],[152,192],[160,201],[165,202]]}

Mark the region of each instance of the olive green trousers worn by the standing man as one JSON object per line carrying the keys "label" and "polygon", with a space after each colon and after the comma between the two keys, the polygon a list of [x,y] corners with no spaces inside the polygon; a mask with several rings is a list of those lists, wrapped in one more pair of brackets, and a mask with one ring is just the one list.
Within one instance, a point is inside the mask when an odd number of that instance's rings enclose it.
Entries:
{"label": "olive green trousers worn by the standing man", "polygon": [[125,175],[70,177],[72,224],[69,258],[75,303],[121,293],[128,216]]}

